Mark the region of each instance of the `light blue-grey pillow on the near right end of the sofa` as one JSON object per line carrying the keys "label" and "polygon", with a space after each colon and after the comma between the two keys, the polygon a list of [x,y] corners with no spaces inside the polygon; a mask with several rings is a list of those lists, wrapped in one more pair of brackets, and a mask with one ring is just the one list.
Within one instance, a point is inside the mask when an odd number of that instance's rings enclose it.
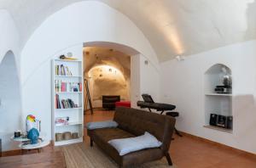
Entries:
{"label": "light blue-grey pillow on the near right end of the sofa", "polygon": [[108,143],[119,152],[120,156],[145,148],[159,148],[162,144],[148,132],[139,137],[113,139],[108,141]]}

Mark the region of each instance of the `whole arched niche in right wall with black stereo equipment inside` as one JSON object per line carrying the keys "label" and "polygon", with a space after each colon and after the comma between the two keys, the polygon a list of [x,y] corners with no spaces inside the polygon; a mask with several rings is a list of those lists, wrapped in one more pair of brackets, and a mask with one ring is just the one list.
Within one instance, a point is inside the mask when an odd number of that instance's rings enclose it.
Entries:
{"label": "whole arched niche in right wall with black stereo equipment inside", "polygon": [[[205,89],[205,126],[207,128],[216,129],[218,131],[224,131],[232,133],[233,123],[228,126],[226,120],[232,119],[232,82],[231,82],[231,69],[225,64],[213,64],[204,74],[204,89]],[[229,84],[224,83],[224,76],[230,77]],[[215,88],[224,89],[223,91],[216,91]],[[224,126],[219,127],[222,124],[219,115],[223,115]],[[210,124],[210,118],[216,119],[217,126]],[[214,117],[214,118],[213,118]],[[212,121],[213,122],[213,121]],[[230,122],[230,121],[229,121]],[[231,121],[232,122],[232,121]],[[210,126],[211,125],[211,126]]]}

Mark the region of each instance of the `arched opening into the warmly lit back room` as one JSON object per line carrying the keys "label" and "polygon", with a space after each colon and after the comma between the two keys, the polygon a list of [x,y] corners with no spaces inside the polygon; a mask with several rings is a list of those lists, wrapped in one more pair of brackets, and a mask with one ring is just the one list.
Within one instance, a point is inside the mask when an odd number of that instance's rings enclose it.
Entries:
{"label": "arched opening into the warmly lit back room", "polygon": [[[89,64],[87,56],[92,60]],[[105,94],[120,96],[121,101],[131,101],[131,106],[135,107],[139,98],[138,92],[140,92],[140,76],[137,76],[140,71],[140,64],[137,64],[140,61],[139,57],[139,52],[123,44],[115,42],[84,43],[84,58],[87,58],[87,60],[84,59],[84,78],[88,78],[88,74],[90,74],[90,84],[95,84],[95,89],[90,85],[90,96],[94,107],[102,106],[102,96]],[[96,72],[96,75],[91,77],[93,71]],[[105,71],[106,73],[103,75]],[[110,76],[111,74],[114,76]],[[118,74],[120,76],[117,76]],[[96,85],[96,81],[99,86]]]}

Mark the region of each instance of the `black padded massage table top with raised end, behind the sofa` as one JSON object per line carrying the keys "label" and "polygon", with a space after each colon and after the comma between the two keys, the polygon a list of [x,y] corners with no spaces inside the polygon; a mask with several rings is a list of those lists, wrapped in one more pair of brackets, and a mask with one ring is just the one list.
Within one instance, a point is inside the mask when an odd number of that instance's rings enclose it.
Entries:
{"label": "black padded massage table top with raised end, behind the sofa", "polygon": [[172,104],[154,103],[153,98],[148,94],[143,94],[142,96],[144,101],[137,101],[137,106],[140,108],[148,108],[150,112],[151,109],[156,109],[157,111],[161,111],[160,114],[162,115],[166,110],[173,110],[176,108],[176,106]]}

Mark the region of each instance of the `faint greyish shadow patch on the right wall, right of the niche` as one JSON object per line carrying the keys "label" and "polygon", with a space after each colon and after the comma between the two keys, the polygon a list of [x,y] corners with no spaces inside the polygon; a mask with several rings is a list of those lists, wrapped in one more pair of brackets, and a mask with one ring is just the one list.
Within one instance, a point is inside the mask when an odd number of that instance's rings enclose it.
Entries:
{"label": "faint greyish shadow patch on the right wall, right of the niche", "polygon": [[[243,144],[248,151],[256,151],[256,101],[253,95],[237,95],[233,99],[234,136],[237,143]],[[253,120],[252,120],[253,119]],[[254,146],[254,147],[253,147]]]}

